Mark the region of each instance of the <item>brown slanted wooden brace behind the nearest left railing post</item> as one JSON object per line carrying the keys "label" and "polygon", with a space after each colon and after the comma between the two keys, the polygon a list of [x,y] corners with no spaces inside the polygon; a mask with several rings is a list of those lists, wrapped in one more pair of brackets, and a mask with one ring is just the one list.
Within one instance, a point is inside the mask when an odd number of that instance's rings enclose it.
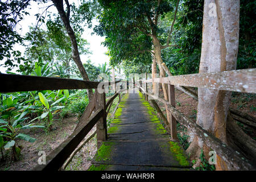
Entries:
{"label": "brown slanted wooden brace behind the nearest left railing post", "polygon": [[89,122],[88,118],[92,114],[92,111],[95,109],[95,103],[96,103],[96,94],[94,93],[89,104],[85,107],[84,113],[82,113],[82,115],[79,119],[79,122],[77,123],[76,128],[73,131],[73,133],[75,133],[77,130],[79,130],[81,128],[81,126],[86,125],[86,122]]}

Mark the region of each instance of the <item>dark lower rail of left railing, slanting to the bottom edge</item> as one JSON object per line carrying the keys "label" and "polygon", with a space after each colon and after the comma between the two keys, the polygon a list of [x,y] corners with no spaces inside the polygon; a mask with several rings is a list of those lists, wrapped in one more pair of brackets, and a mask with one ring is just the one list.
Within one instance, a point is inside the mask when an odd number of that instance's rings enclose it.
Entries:
{"label": "dark lower rail of left railing, slanting to the bottom edge", "polygon": [[92,130],[93,126],[97,123],[98,119],[104,114],[103,109],[97,110],[93,115],[88,118],[88,122],[83,125],[75,133],[71,134],[63,143],[61,143],[55,150],[53,150],[46,157],[46,164],[36,166],[32,171],[57,171],[61,168],[65,160],[76,149],[84,137]]}

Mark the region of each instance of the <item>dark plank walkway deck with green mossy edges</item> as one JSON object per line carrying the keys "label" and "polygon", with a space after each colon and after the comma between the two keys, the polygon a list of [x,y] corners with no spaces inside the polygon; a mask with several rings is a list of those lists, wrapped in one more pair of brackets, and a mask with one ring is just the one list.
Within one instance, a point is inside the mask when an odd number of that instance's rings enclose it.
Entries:
{"label": "dark plank walkway deck with green mossy edges", "polygon": [[126,93],[89,170],[189,170],[182,147],[170,139],[143,95]]}

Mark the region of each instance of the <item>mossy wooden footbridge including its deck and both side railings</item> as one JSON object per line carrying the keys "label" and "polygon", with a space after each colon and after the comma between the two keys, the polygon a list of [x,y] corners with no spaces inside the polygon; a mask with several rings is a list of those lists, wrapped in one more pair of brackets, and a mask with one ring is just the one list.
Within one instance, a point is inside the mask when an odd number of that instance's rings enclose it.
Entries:
{"label": "mossy wooden footbridge including its deck and both side railings", "polygon": [[[98,152],[93,159],[91,170],[177,170],[189,169],[187,157],[177,144],[176,121],[192,131],[208,147],[217,152],[230,170],[252,170],[254,166],[240,152],[221,142],[191,119],[185,117],[175,108],[174,85],[177,88],[192,86],[229,90],[236,92],[256,93],[256,69],[244,69],[218,73],[181,75],[154,79],[132,80],[131,85],[141,92],[125,93],[121,100],[119,90],[106,101],[105,93],[94,92],[93,98],[82,114],[73,133],[51,152],[46,158],[46,164],[38,165],[34,170],[59,170],[72,152],[79,146],[82,139],[96,125]],[[32,90],[55,89],[101,89],[104,85],[116,84],[122,81],[93,82],[53,77],[36,77],[0,74],[0,83],[4,85],[0,92],[20,92]],[[143,82],[143,83],[142,83]],[[149,82],[161,82],[168,85],[168,101],[157,97],[148,90]],[[126,83],[125,83],[126,85]],[[130,90],[130,89],[129,89]],[[135,89],[133,89],[135,90]],[[130,92],[132,92],[130,90]],[[106,113],[113,100],[119,96],[119,108],[115,118],[107,129]],[[152,105],[148,104],[148,100]],[[171,113],[170,121],[166,122],[163,113],[155,100],[167,105]],[[93,110],[94,113],[93,113]],[[163,123],[156,117],[154,111],[162,116]],[[169,132],[168,132],[169,131]],[[168,135],[171,134],[171,139]]]}

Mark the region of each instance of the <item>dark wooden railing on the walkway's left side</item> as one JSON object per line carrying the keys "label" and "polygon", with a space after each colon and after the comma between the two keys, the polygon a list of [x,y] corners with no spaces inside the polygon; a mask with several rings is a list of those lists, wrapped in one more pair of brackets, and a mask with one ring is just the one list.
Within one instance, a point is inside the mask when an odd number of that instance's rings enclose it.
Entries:
{"label": "dark wooden railing on the walkway's left side", "polygon": [[[104,82],[103,85],[113,85],[118,82],[121,82],[121,80]],[[107,138],[106,111],[110,109],[109,107],[112,105],[114,99],[126,90],[116,88],[118,91],[106,102],[105,93],[99,93],[97,91],[100,82],[95,81],[0,74],[0,84],[2,85],[0,93],[32,90],[95,89],[93,97],[86,106],[73,133],[46,157],[46,164],[40,164],[33,170],[59,170],[65,160],[68,159],[76,147],[79,146],[82,139],[86,137],[95,125],[97,142],[98,146],[100,146],[100,143]]]}

